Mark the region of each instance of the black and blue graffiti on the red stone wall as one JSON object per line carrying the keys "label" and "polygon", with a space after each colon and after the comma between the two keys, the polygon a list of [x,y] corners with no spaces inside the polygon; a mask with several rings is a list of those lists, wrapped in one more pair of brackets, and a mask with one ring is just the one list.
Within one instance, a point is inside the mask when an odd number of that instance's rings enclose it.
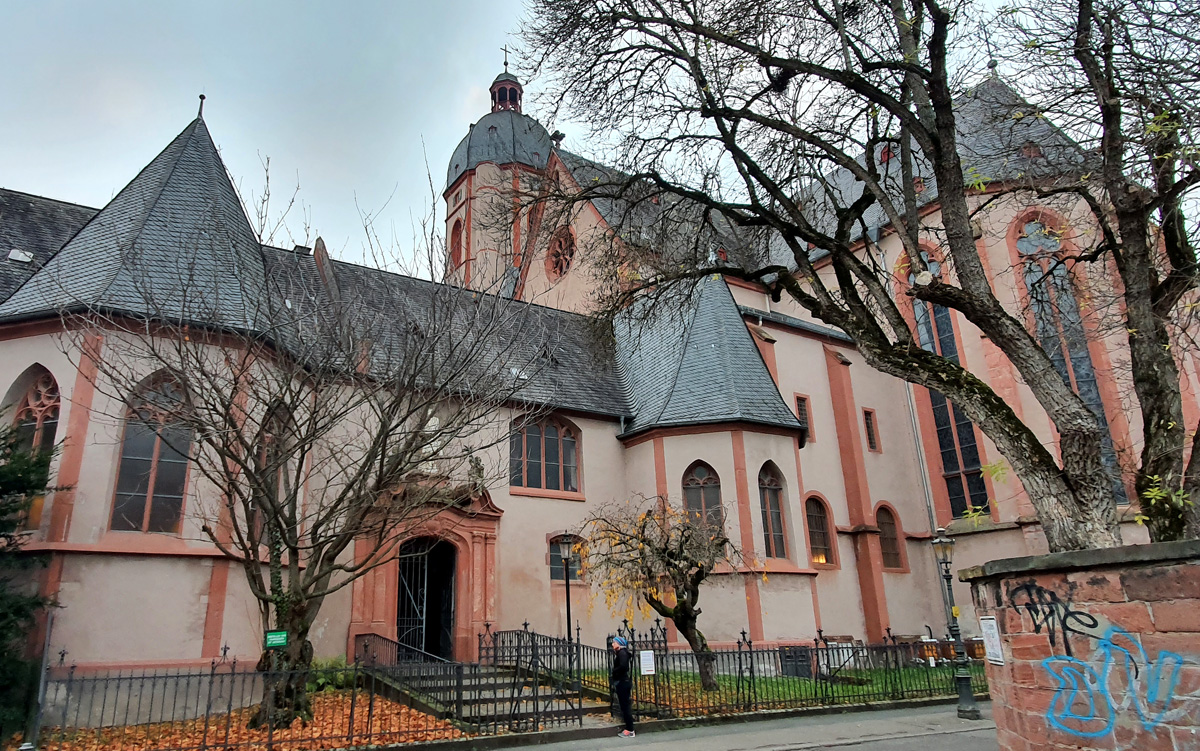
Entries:
{"label": "black and blue graffiti on the red stone wall", "polygon": [[[1132,711],[1146,731],[1170,719],[1180,669],[1184,659],[1160,651],[1151,660],[1128,631],[1099,617],[1076,611],[1068,600],[1033,583],[1012,590],[1009,602],[1028,613],[1034,633],[1045,632],[1050,644],[1061,637],[1066,654],[1042,661],[1056,683],[1046,722],[1078,738],[1099,738],[1112,732],[1117,717]],[[1090,662],[1072,654],[1070,635],[1096,639]]]}

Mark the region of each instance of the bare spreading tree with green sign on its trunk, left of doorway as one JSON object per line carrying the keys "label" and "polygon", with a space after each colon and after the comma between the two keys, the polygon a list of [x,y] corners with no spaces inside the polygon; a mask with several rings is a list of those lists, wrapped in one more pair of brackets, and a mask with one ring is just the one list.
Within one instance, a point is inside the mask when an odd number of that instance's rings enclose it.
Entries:
{"label": "bare spreading tree with green sign on its trunk, left of doorway", "polygon": [[[73,301],[62,342],[104,341],[95,385],[119,408],[125,446],[113,528],[192,521],[238,561],[264,629],[288,633],[263,653],[259,668],[280,672],[251,722],[287,726],[308,715],[308,632],[325,599],[506,476],[499,415],[545,403],[556,319],[331,260],[319,239],[311,253],[240,257],[218,226],[178,240],[169,258],[122,257],[137,312]],[[440,265],[440,245],[428,247]]]}

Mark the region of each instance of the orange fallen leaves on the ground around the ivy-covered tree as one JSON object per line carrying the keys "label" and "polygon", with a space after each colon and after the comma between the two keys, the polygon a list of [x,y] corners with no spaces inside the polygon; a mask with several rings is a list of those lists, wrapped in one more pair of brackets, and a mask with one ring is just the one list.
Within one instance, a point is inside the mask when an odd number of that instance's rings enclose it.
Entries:
{"label": "orange fallen leaves on the ground around the ivy-covered tree", "polygon": [[[236,751],[316,751],[358,745],[422,743],[462,738],[445,720],[376,696],[353,698],[348,691],[312,696],[312,720],[296,720],[275,731],[248,729],[253,707],[228,715],[125,727],[68,729],[49,727],[42,733],[47,751],[151,751],[155,749],[232,749]],[[17,746],[8,746],[12,751]]]}

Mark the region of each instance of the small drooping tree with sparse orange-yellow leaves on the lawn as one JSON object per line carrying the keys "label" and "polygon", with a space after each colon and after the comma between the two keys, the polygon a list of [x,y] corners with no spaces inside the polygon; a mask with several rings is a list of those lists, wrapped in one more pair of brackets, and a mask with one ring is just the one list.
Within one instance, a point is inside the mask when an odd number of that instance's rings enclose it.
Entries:
{"label": "small drooping tree with sparse orange-yellow leaves on the lawn", "polygon": [[610,504],[583,523],[580,555],[608,607],[632,615],[654,611],[688,639],[706,691],[716,690],[716,656],[697,627],[700,588],[719,563],[740,558],[721,525],[660,498]]}

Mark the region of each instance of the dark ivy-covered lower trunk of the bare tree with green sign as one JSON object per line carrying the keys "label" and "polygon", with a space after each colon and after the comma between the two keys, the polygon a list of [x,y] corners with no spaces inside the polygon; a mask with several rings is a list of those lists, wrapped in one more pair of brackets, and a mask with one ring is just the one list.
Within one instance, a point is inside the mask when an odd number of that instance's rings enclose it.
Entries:
{"label": "dark ivy-covered lower trunk of the bare tree with green sign", "polygon": [[292,727],[299,717],[312,719],[308,701],[308,672],[312,667],[312,642],[308,641],[308,619],[302,608],[292,608],[281,618],[288,632],[288,645],[281,650],[268,649],[258,660],[263,673],[263,701],[251,715],[246,727],[281,729]]}

